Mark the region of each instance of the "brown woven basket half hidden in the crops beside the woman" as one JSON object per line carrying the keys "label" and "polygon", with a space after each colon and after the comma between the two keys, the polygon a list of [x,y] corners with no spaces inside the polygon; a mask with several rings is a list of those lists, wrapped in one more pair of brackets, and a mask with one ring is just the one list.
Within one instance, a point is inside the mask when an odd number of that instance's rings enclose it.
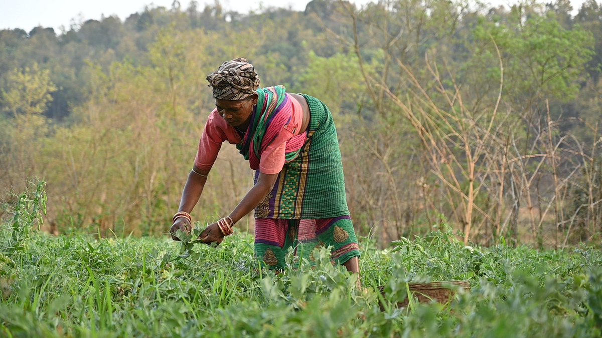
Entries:
{"label": "brown woven basket half hidden in the crops beside the woman", "polygon": [[[470,290],[470,284],[467,281],[434,281],[432,283],[408,283],[408,288],[412,293],[412,297],[417,299],[419,303],[430,303],[437,301],[440,304],[447,304],[455,295],[456,289]],[[380,293],[384,294],[385,287],[379,287]],[[386,296],[385,296],[386,297]],[[397,307],[408,306],[409,300],[397,303]],[[381,304],[381,309],[383,306]]]}

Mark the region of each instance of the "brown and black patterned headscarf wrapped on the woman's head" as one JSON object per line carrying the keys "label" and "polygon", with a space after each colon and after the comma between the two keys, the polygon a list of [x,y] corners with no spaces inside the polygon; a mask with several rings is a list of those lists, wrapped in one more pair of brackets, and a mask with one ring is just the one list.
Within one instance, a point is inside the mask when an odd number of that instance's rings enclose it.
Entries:
{"label": "brown and black patterned headscarf wrapped on the woman's head", "polygon": [[213,97],[222,100],[242,100],[255,94],[259,88],[259,75],[245,58],[225,62],[207,76]]}

